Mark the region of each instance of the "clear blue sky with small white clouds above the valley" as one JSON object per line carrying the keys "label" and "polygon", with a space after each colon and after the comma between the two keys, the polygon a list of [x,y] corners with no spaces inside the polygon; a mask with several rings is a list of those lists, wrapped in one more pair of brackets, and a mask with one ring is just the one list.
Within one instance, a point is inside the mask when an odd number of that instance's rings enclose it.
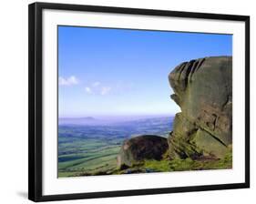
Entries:
{"label": "clear blue sky with small white clouds above the valley", "polygon": [[231,55],[230,35],[58,26],[59,117],[173,115],[169,72]]}

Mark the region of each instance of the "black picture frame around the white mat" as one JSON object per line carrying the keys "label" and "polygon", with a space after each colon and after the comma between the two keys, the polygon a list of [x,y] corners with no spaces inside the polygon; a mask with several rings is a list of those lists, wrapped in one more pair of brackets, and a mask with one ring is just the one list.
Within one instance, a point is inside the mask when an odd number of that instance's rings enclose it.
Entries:
{"label": "black picture frame around the white mat", "polygon": [[[92,193],[77,193],[63,195],[42,194],[42,11],[44,9],[57,9],[68,11],[91,11],[112,14],[129,15],[159,15],[176,16],[198,19],[218,19],[241,21],[245,23],[245,182],[189,186],[162,189],[132,189],[119,191],[105,191]],[[125,7],[108,7],[94,5],[67,5],[34,3],[29,5],[28,13],[28,199],[33,201],[50,201],[64,199],[92,199],[105,197],[134,196],[161,193],[176,193],[188,191],[217,190],[217,189],[244,189],[250,188],[250,16],[247,15],[220,15],[192,12],[178,12],[167,10],[149,10]]]}

